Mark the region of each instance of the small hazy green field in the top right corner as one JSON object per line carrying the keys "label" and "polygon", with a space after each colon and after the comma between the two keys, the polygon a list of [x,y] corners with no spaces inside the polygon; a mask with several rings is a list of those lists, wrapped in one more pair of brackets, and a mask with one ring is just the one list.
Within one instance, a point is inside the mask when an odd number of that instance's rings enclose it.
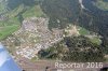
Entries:
{"label": "small hazy green field in the top right corner", "polygon": [[98,9],[108,11],[108,2],[104,2],[103,0],[97,0],[97,2],[94,3]]}

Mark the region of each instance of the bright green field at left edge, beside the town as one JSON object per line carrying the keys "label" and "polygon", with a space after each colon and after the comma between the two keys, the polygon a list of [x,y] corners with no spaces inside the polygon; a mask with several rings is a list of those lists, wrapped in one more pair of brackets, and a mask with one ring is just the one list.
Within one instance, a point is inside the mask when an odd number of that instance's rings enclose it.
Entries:
{"label": "bright green field at left edge, beside the town", "polygon": [[5,39],[8,36],[15,32],[21,26],[17,17],[0,22],[0,40]]}

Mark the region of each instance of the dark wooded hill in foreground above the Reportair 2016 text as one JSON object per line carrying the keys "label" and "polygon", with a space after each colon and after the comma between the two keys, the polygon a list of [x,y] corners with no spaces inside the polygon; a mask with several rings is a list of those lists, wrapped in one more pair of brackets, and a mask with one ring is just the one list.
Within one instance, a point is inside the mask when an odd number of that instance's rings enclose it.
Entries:
{"label": "dark wooded hill in foreground above the Reportair 2016 text", "polygon": [[85,37],[67,37],[54,46],[39,52],[39,57],[63,61],[105,61],[102,47]]}

